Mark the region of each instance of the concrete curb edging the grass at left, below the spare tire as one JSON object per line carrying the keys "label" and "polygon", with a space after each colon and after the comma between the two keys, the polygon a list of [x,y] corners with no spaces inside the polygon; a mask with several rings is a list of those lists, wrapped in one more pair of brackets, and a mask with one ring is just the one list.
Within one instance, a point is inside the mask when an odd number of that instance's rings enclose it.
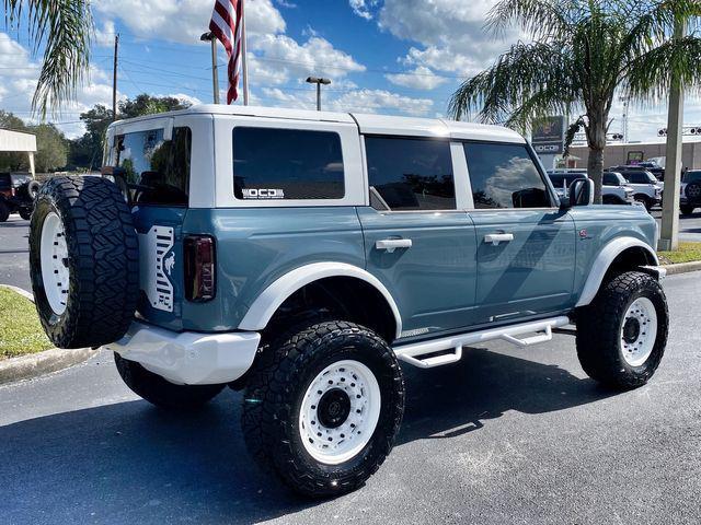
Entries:
{"label": "concrete curb edging the grass at left, below the spare tire", "polygon": [[44,374],[58,372],[74,364],[82,363],[95,355],[99,350],[82,348],[80,350],[46,350],[19,358],[0,361],[0,385],[21,380],[32,380]]}

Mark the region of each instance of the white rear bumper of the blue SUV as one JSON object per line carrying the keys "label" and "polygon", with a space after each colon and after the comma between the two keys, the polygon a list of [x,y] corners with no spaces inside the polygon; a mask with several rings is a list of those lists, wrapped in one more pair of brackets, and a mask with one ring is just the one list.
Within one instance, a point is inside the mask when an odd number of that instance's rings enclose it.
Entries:
{"label": "white rear bumper of the blue SUV", "polygon": [[253,364],[260,342],[255,331],[175,332],[135,322],[105,348],[173,383],[212,385],[241,377]]}

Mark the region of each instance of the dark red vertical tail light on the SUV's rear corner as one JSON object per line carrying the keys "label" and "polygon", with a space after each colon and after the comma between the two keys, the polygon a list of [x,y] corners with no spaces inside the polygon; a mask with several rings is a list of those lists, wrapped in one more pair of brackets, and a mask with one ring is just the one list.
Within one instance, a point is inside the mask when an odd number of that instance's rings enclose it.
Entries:
{"label": "dark red vertical tail light on the SUV's rear corner", "polygon": [[185,299],[203,303],[217,292],[215,240],[207,235],[185,237]]}

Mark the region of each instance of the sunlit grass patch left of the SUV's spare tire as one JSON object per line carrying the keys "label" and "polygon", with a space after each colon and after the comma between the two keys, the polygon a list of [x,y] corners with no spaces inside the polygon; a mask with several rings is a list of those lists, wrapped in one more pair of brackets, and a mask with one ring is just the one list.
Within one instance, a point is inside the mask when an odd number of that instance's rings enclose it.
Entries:
{"label": "sunlit grass patch left of the SUV's spare tire", "polygon": [[32,301],[0,288],[0,361],[49,348]]}

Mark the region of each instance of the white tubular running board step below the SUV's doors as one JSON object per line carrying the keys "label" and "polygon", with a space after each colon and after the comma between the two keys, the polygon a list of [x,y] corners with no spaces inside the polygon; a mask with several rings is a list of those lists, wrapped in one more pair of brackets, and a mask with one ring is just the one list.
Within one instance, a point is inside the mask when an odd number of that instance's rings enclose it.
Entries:
{"label": "white tubular running board step below the SUV's doors", "polygon": [[[441,364],[450,364],[460,361],[462,358],[462,347],[467,347],[469,345],[502,339],[510,342],[512,345],[516,345],[517,347],[530,347],[531,345],[550,341],[552,339],[553,328],[560,328],[568,324],[570,318],[563,315],[532,323],[503,326],[501,328],[490,328],[486,330],[461,334],[432,341],[399,346],[394,347],[394,353],[398,359],[413,364],[414,366],[432,369],[434,366],[440,366]],[[525,338],[517,337],[526,334],[536,335]],[[444,353],[441,355],[434,355],[425,359],[421,358],[422,355],[451,349],[453,350],[452,353]]]}

